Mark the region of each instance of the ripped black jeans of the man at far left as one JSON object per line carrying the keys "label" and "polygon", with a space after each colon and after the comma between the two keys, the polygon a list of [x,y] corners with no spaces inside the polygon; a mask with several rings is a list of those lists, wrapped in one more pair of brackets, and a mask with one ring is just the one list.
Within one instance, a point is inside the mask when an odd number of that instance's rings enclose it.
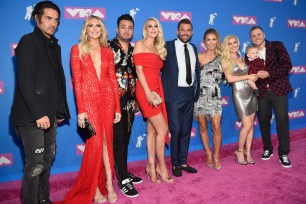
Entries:
{"label": "ripped black jeans of the man at far left", "polygon": [[49,199],[50,170],[56,152],[56,128],[56,122],[48,130],[38,129],[34,124],[31,127],[16,127],[25,152],[23,204],[37,204],[41,197]]}

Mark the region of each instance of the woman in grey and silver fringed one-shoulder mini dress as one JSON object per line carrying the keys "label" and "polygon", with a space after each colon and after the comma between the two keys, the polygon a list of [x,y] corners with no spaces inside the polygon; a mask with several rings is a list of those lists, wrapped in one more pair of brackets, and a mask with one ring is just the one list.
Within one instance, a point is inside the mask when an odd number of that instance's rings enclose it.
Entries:
{"label": "woman in grey and silver fringed one-shoulder mini dress", "polygon": [[[220,83],[223,75],[220,57],[221,43],[218,32],[212,28],[205,31],[203,41],[207,51],[198,55],[201,65],[201,90],[199,99],[194,104],[194,116],[199,122],[200,135],[207,155],[207,166],[220,170],[219,154],[222,137]],[[209,146],[208,120],[211,120],[213,130],[213,153]]]}

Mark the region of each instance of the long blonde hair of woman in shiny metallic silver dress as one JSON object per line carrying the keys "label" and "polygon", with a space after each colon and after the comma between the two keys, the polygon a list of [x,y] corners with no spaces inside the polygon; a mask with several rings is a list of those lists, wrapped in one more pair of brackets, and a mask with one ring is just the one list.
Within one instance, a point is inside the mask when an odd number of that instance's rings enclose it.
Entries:
{"label": "long blonde hair of woman in shiny metallic silver dress", "polygon": [[234,61],[231,57],[231,52],[230,52],[230,48],[229,48],[229,44],[228,44],[228,41],[231,38],[236,39],[237,44],[238,44],[238,53],[237,53],[238,58],[240,58],[244,62],[244,59],[243,59],[243,57],[242,57],[242,55],[239,51],[240,41],[239,41],[238,37],[235,36],[235,35],[227,35],[223,40],[222,53],[221,53],[221,59],[222,59],[221,64],[222,64],[224,72],[227,72],[227,73],[232,73],[233,68],[234,68]]}

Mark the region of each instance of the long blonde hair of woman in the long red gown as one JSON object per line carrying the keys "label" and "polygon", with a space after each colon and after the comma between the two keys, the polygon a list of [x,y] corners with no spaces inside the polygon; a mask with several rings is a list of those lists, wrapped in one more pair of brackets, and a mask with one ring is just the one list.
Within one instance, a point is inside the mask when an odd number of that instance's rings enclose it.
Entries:
{"label": "long blonde hair of woman in the long red gown", "polygon": [[99,37],[99,44],[103,47],[107,47],[107,30],[106,30],[104,23],[98,16],[90,15],[83,23],[81,36],[80,36],[80,42],[78,44],[80,59],[82,59],[82,55],[92,54],[92,49],[90,46],[90,39],[86,32],[86,28],[89,24],[89,21],[94,18],[99,21],[101,28],[102,28],[101,36]]}

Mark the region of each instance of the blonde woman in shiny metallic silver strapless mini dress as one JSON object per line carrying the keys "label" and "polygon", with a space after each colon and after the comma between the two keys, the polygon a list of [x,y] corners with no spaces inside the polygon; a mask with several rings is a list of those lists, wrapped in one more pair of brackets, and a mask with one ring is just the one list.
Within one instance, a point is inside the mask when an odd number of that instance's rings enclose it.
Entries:
{"label": "blonde woman in shiny metallic silver strapless mini dress", "polygon": [[[254,118],[257,111],[257,98],[247,80],[256,81],[257,75],[248,75],[248,66],[239,52],[240,42],[234,35],[228,35],[223,41],[222,67],[229,83],[233,85],[233,101],[238,117],[242,121],[239,133],[239,147],[235,151],[239,164],[255,164],[251,156],[254,134]],[[246,160],[244,158],[246,156]]]}

